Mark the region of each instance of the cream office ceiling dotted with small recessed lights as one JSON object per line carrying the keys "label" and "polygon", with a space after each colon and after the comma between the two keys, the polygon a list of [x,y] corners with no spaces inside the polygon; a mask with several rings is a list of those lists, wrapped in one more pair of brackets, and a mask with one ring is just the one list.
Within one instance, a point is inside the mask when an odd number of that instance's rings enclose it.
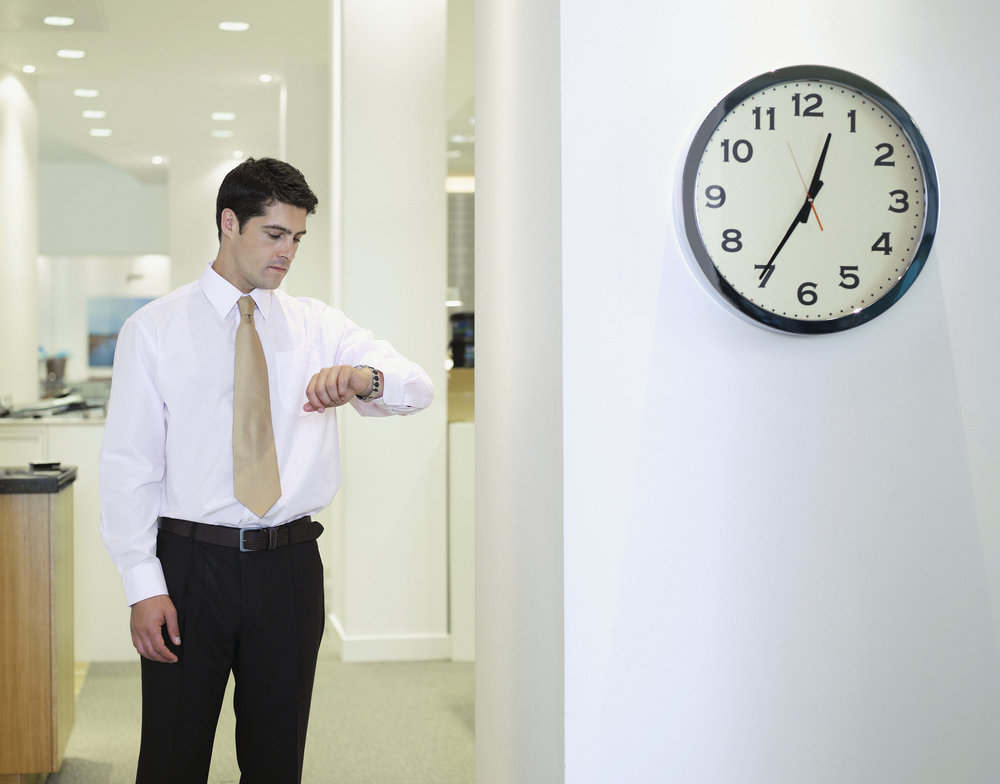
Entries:
{"label": "cream office ceiling dotted with small recessed lights", "polygon": [[[93,160],[144,181],[165,180],[183,155],[231,155],[274,150],[279,136],[281,85],[325,73],[329,63],[331,0],[0,0],[0,67],[37,71],[43,160]],[[448,4],[448,168],[471,175],[474,106],[473,0]],[[49,15],[71,27],[42,22]],[[247,22],[246,32],[219,30]],[[86,52],[60,58],[60,49]],[[261,83],[270,74],[273,81]],[[80,98],[77,88],[100,91]],[[103,119],[83,112],[98,109]],[[233,120],[213,120],[231,112]],[[111,135],[94,137],[91,129]],[[231,131],[231,138],[213,132]],[[249,153],[247,153],[249,154]],[[156,165],[153,156],[164,158]]]}

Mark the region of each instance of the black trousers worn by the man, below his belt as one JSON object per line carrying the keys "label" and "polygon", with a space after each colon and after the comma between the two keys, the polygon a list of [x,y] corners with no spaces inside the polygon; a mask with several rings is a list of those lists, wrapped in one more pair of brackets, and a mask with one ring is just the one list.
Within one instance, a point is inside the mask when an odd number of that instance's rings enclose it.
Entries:
{"label": "black trousers worn by the man, below his belt", "polygon": [[[142,659],[136,784],[204,784],[229,674],[240,784],[299,784],[325,624],[315,541],[242,553],[159,531],[179,660]],[[166,637],[166,634],[164,634]]]}

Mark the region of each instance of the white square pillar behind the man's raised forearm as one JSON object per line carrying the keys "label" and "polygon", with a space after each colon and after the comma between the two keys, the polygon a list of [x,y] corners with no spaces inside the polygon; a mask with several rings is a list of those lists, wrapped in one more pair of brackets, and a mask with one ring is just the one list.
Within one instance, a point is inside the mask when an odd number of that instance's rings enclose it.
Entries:
{"label": "white square pillar behind the man's raised forearm", "polygon": [[333,31],[336,303],[430,374],[414,417],[338,412],[328,562],[345,660],[449,658],[445,493],[444,0],[339,0]]}

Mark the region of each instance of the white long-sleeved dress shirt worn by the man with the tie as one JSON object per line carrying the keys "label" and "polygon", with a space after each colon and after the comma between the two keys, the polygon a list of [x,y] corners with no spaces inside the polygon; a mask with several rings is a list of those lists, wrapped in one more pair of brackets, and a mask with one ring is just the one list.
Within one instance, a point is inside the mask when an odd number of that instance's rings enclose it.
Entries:
{"label": "white long-sleeved dress shirt worn by the man with the tie", "polygon": [[241,292],[211,266],[201,279],[137,311],[115,350],[101,446],[101,536],[128,603],[167,593],[156,519],[280,525],[329,505],[340,486],[335,411],[307,413],[321,368],[371,365],[382,397],[354,400],[365,416],[430,405],[427,374],[340,311],[255,289],[254,321],[268,365],[281,498],[258,518],[233,496],[233,367]]}

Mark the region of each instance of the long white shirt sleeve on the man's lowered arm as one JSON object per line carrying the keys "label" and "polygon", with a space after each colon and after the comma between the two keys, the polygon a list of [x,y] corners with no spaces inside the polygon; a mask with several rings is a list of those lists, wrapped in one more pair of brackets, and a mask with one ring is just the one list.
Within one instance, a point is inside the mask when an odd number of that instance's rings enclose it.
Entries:
{"label": "long white shirt sleeve on the man's lowered arm", "polygon": [[155,349],[140,322],[126,321],[115,348],[98,469],[101,538],[130,605],[167,593],[156,557],[166,419],[150,372]]}

